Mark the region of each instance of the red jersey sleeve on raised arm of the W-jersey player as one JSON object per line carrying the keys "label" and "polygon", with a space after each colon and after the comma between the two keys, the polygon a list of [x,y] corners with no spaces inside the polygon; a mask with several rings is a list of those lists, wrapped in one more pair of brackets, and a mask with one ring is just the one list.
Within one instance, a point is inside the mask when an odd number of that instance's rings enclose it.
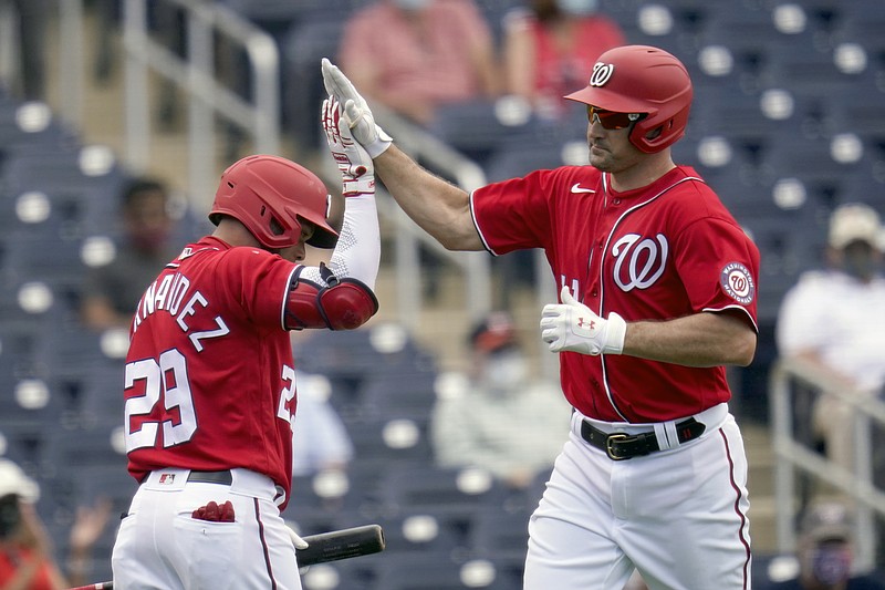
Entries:
{"label": "red jersey sleeve on raised arm of the W-jersey player", "polygon": [[470,210],[486,249],[494,256],[551,244],[550,170],[473,190]]}

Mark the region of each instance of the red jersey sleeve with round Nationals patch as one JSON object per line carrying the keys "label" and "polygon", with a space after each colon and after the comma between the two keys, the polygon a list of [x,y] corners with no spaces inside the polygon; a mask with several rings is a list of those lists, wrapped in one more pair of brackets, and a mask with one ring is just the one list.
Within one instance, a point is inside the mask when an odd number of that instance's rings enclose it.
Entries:
{"label": "red jersey sleeve with round Nationals patch", "polygon": [[740,226],[717,217],[693,221],[675,262],[695,312],[741,310],[758,330],[759,249]]}

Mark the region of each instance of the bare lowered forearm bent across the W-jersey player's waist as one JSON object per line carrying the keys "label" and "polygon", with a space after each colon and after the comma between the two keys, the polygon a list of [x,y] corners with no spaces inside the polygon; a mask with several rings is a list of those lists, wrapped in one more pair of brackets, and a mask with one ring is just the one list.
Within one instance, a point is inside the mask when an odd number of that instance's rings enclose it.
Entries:
{"label": "bare lowered forearm bent across the W-jersey player's waist", "polygon": [[756,342],[756,332],[746,322],[705,312],[628,323],[623,354],[685,366],[746,366],[753,360]]}

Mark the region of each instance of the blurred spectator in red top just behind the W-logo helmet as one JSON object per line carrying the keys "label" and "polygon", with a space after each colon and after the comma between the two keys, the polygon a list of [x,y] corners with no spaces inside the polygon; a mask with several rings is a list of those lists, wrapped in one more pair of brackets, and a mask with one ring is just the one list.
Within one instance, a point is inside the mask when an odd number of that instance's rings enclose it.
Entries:
{"label": "blurred spectator in red top just behind the W-logo helmet", "polygon": [[561,116],[568,106],[562,97],[586,84],[596,58],[625,43],[621,27],[597,9],[598,0],[532,0],[509,13],[507,92],[525,99],[541,117]]}

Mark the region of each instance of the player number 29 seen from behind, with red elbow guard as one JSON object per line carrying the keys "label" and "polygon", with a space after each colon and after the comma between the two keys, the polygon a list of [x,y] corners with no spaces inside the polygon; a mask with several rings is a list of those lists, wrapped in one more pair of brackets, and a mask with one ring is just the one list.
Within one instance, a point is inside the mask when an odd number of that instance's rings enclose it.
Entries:
{"label": "player number 29 seen from behind, with red elbow guard", "polygon": [[[140,486],[113,551],[117,590],[301,589],[295,548],[306,545],[280,516],[298,401],[288,331],[354,329],[377,311],[374,173],[341,121],[325,101],[346,197],[340,239],[320,178],[282,157],[244,157],[221,175],[215,232],[142,297],[125,369]],[[334,246],[329,266],[300,263],[305,244]]]}

